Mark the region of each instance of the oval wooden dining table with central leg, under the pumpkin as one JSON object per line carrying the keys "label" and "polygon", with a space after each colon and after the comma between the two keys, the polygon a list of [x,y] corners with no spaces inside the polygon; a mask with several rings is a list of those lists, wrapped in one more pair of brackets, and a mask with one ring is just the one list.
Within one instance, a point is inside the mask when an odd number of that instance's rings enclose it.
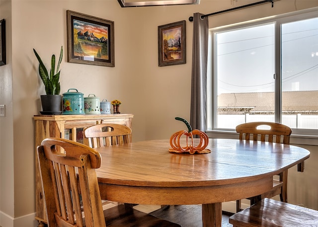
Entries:
{"label": "oval wooden dining table with central leg, under the pumpkin", "polygon": [[[222,202],[260,195],[273,175],[309,158],[284,144],[209,139],[210,153],[168,151],[169,140],[96,148],[102,199],[130,204],[202,204],[203,227],[221,227]],[[293,183],[293,182],[289,182]]]}

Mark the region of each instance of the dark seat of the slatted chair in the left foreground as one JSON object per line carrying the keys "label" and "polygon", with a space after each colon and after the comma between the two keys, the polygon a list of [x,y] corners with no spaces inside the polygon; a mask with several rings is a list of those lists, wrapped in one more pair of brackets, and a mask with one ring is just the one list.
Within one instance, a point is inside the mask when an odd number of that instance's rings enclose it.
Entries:
{"label": "dark seat of the slatted chair in the left foreground", "polygon": [[105,210],[104,216],[107,227],[181,227],[122,204]]}

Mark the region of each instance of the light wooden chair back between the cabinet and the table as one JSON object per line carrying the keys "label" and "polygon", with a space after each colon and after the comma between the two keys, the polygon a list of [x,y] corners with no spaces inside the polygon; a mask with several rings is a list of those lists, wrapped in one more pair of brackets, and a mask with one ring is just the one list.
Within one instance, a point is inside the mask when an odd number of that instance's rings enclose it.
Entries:
{"label": "light wooden chair back between the cabinet and the table", "polygon": [[131,128],[119,124],[98,124],[83,130],[84,144],[91,148],[131,142]]}

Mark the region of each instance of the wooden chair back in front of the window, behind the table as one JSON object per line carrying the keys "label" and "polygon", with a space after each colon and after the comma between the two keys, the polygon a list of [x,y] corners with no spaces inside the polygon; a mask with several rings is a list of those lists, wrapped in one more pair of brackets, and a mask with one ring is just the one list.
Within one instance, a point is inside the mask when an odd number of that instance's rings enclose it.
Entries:
{"label": "wooden chair back in front of the window, behind the table", "polygon": [[[266,126],[270,129],[262,129],[259,127]],[[289,144],[291,128],[286,125],[273,122],[248,122],[240,124],[236,127],[240,140],[268,141],[271,143]]]}

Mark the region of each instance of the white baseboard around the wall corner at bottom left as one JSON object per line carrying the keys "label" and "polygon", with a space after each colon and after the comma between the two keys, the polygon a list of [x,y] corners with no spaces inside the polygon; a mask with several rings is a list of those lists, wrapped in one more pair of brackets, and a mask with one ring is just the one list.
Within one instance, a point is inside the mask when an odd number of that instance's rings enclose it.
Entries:
{"label": "white baseboard around the wall corner at bottom left", "polygon": [[35,220],[35,213],[18,218],[0,212],[0,227],[37,227],[39,222]]}

